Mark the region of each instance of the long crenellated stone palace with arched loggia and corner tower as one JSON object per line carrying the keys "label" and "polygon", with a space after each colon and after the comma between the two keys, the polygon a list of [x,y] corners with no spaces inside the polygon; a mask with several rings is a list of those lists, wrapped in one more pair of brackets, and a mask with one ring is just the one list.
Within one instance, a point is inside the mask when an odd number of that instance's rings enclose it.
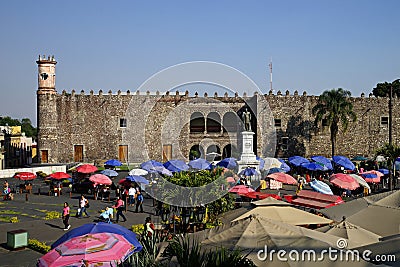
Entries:
{"label": "long crenellated stone palace with arched loggia and corner tower", "polygon": [[[261,157],[330,157],[328,127],[314,126],[318,96],[289,91],[266,95],[190,96],[186,92],[76,92],[56,90],[53,57],[39,56],[37,123],[41,163],[99,162],[117,158],[219,160],[241,151],[241,116],[252,113],[254,152]],[[339,132],[338,155],[374,156],[389,139],[388,98],[351,97],[357,121]],[[267,105],[266,105],[267,103]],[[399,145],[400,101],[393,99],[393,143]]]}

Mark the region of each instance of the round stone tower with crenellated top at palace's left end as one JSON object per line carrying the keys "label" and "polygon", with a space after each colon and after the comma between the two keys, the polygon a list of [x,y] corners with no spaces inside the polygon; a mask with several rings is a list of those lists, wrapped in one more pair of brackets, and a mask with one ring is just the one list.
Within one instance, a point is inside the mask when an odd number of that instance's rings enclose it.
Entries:
{"label": "round stone tower with crenellated top at palace's left end", "polygon": [[[56,64],[54,56],[39,56],[37,90],[38,158],[53,163],[57,150]],[[52,159],[49,162],[49,159]],[[55,159],[56,160],[56,159]]]}

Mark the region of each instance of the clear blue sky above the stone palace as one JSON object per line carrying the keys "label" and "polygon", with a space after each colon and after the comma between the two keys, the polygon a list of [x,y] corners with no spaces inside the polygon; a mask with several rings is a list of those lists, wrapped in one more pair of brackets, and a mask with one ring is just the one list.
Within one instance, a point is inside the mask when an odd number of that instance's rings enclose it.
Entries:
{"label": "clear blue sky above the stone palace", "polygon": [[39,54],[57,90],[135,91],[152,74],[206,60],[269,90],[359,96],[400,77],[400,1],[1,1],[0,115],[36,123]]}

